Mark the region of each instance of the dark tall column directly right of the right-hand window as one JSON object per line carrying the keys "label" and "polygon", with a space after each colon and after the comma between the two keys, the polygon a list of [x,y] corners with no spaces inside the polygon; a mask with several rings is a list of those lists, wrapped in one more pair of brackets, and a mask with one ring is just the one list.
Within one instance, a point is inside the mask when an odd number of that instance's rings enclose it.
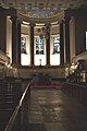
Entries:
{"label": "dark tall column directly right of the right-hand window", "polygon": [[60,64],[64,64],[63,21],[60,23]]}

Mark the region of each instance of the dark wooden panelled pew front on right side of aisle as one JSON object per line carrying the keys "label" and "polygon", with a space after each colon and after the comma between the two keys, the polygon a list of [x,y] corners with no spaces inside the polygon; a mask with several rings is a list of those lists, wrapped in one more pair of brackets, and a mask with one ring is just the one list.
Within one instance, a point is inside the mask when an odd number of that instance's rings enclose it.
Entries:
{"label": "dark wooden panelled pew front on right side of aisle", "polygon": [[84,85],[82,83],[74,84],[65,82],[63,84],[62,91],[79,103],[87,105],[87,85]]}

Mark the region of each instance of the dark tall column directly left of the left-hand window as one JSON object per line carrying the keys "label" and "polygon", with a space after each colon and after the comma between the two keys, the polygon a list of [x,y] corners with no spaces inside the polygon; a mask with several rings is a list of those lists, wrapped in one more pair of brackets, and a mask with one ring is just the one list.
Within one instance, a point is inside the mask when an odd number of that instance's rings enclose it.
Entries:
{"label": "dark tall column directly left of the left-hand window", "polygon": [[17,21],[17,64],[21,64],[21,22]]}

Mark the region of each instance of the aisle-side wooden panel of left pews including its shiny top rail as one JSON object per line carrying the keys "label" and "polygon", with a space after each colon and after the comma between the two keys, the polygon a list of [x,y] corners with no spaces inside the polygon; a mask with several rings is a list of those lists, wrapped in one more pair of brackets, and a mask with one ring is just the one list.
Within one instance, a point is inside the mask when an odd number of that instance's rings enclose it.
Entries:
{"label": "aisle-side wooden panel of left pews including its shiny top rail", "polygon": [[[20,131],[21,124],[25,120],[24,118],[27,117],[26,109],[28,111],[28,98],[30,95],[30,83],[24,90],[18,104],[16,105],[4,131]],[[27,119],[27,118],[26,118]]]}

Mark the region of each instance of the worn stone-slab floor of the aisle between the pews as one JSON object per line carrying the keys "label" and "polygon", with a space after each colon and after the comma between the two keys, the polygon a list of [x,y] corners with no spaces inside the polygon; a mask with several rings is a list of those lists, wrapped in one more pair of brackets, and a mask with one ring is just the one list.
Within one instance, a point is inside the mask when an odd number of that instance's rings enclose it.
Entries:
{"label": "worn stone-slab floor of the aisle between the pews", "polygon": [[22,131],[87,131],[87,108],[58,88],[33,88]]}

